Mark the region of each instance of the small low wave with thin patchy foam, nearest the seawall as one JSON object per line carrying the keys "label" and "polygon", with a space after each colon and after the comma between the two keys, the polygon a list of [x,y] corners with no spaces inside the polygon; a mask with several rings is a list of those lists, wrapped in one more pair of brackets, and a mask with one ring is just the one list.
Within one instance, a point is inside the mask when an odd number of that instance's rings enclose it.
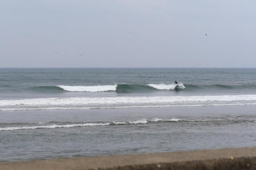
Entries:
{"label": "small low wave with thin patchy foam, nearest the seawall", "polygon": [[250,117],[232,117],[232,118],[219,118],[219,119],[182,119],[182,118],[142,118],[141,120],[134,121],[107,121],[107,122],[46,122],[46,123],[0,123],[0,131],[13,131],[13,130],[31,130],[31,129],[54,129],[54,128],[77,128],[85,126],[111,126],[111,125],[137,125],[148,123],[179,123],[179,122],[222,122],[227,123],[241,123],[241,122],[255,122],[255,116]]}

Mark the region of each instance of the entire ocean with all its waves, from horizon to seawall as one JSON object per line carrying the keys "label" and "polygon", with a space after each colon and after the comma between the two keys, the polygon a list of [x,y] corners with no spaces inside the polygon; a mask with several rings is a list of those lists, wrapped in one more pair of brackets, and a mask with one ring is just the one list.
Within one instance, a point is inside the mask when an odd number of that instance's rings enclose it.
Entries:
{"label": "entire ocean with all its waves, from horizon to seawall", "polygon": [[250,147],[255,130],[256,69],[0,69],[1,162]]}

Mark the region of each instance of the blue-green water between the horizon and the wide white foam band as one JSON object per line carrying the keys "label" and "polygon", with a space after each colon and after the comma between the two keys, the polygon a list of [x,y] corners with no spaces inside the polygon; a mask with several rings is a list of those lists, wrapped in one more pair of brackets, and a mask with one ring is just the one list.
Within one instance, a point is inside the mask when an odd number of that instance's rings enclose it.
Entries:
{"label": "blue-green water between the horizon and the wide white foam band", "polygon": [[[174,81],[186,88],[173,91]],[[97,87],[114,86],[116,89]],[[169,85],[150,87],[147,84]],[[66,86],[59,88],[57,86]],[[72,88],[72,86],[79,86]],[[255,94],[256,69],[0,69],[1,98],[115,96],[129,93]],[[165,90],[165,91],[161,91]],[[70,93],[70,92],[83,92]],[[87,91],[87,93],[86,93]],[[105,91],[105,93],[101,93]],[[108,91],[108,93],[106,93]],[[34,96],[36,94],[36,96]],[[54,94],[54,95],[53,95]]]}

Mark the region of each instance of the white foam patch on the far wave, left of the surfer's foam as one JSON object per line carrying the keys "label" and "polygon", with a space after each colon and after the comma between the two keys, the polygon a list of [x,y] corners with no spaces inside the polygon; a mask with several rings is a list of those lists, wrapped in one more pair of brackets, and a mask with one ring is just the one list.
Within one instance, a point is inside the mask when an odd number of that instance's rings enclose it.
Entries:
{"label": "white foam patch on the far wave, left of the surfer's foam", "polygon": [[103,85],[103,86],[57,86],[65,91],[86,91],[86,92],[101,92],[101,91],[115,91],[117,84],[115,85]]}

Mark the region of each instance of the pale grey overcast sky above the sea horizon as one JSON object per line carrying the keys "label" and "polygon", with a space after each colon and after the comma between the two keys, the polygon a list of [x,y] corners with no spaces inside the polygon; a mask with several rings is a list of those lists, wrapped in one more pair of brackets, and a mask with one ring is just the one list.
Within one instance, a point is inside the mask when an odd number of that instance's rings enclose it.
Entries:
{"label": "pale grey overcast sky above the sea horizon", "polygon": [[1,0],[0,67],[255,67],[255,7],[255,0]]}

